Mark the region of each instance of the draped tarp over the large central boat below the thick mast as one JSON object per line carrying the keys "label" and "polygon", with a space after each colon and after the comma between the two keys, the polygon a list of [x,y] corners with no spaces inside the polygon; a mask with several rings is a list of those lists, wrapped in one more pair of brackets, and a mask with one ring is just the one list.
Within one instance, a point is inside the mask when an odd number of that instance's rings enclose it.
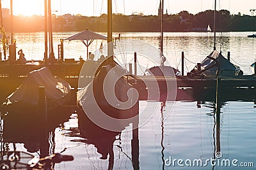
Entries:
{"label": "draped tarp over the large central boat below the thick mast", "polygon": [[[131,110],[124,109],[132,107],[131,97],[127,96],[131,85],[122,77],[125,70],[113,65],[103,66],[93,81],[77,92],[77,103],[94,124],[111,131],[122,131],[131,123]],[[99,121],[106,124],[101,125]]]}

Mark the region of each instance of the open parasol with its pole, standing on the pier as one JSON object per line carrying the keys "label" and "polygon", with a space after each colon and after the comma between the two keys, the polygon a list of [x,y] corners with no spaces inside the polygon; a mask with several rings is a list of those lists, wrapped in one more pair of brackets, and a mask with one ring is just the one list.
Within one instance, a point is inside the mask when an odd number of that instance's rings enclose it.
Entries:
{"label": "open parasol with its pole, standing on the pier", "polygon": [[107,37],[106,36],[102,36],[100,34],[97,34],[96,32],[93,32],[93,31],[90,31],[90,30],[86,29],[86,30],[84,30],[82,32],[79,32],[79,33],[75,34],[74,36],[70,36],[69,38],[67,38],[65,40],[68,40],[68,41],[71,41],[71,40],[81,40],[82,43],[84,43],[84,45],[87,48],[87,60],[88,60],[88,57],[89,57],[88,46],[90,46],[92,44],[94,39],[104,39],[104,40],[107,40]]}

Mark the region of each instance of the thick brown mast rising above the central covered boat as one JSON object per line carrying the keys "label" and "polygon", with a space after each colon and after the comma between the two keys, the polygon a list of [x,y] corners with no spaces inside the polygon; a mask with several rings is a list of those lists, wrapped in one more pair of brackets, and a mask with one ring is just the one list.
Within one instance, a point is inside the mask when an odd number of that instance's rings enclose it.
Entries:
{"label": "thick brown mast rising above the central covered boat", "polygon": [[108,57],[113,59],[113,41],[112,41],[112,0],[108,0]]}

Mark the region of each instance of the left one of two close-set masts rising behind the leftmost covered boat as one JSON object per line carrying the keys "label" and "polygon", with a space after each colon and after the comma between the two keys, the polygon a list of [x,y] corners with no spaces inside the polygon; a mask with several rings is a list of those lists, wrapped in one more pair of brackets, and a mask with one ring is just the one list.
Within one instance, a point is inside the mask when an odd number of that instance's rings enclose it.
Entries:
{"label": "left one of two close-set masts rising behind the leftmost covered boat", "polygon": [[47,41],[48,41],[48,36],[47,36],[47,30],[48,30],[48,4],[47,0],[44,0],[44,61],[47,61]]}

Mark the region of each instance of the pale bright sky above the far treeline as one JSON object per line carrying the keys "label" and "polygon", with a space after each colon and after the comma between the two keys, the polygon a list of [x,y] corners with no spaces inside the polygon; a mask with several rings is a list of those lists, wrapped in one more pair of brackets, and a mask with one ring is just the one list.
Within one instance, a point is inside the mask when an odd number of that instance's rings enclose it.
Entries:
{"label": "pale bright sky above the far treeline", "polygon": [[[107,13],[107,0],[51,0],[52,14],[100,16]],[[1,0],[2,8],[10,8],[10,0]],[[159,0],[113,0],[113,13],[144,13],[157,15]],[[186,10],[196,14],[200,11],[214,10],[214,0],[165,0],[164,13],[176,14]],[[217,10],[228,10],[232,14],[252,15],[256,10],[256,0],[217,0]],[[13,0],[14,15],[44,15],[44,0]],[[256,11],[253,13],[256,15]]]}

